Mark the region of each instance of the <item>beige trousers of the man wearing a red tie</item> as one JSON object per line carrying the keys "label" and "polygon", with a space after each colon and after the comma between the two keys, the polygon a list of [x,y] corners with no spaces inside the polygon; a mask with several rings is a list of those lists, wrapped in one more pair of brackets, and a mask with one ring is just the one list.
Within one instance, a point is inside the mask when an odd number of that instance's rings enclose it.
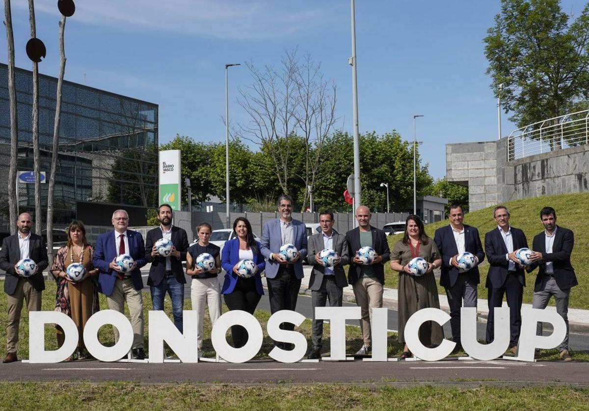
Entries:
{"label": "beige trousers of the man wearing a red tie", "polygon": [[[130,277],[124,280],[117,279],[112,289],[112,294],[107,296],[108,308],[125,312],[125,301],[131,314],[131,326],[133,327],[132,348],[143,348],[143,294],[141,290],[135,290],[133,280]],[[112,327],[115,343],[118,342],[118,330]]]}

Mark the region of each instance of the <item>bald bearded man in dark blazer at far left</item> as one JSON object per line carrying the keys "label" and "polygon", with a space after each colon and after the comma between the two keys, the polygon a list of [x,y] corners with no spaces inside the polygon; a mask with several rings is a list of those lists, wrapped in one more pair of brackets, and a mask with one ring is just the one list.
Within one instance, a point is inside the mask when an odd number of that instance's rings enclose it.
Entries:
{"label": "bald bearded man in dark blazer at far left", "polygon": [[[8,324],[6,325],[6,358],[4,363],[12,363],[16,358],[18,345],[18,326],[21,322],[23,301],[27,301],[28,311],[41,311],[41,291],[45,290],[43,270],[49,265],[47,248],[41,236],[31,233],[33,219],[31,214],[22,213],[16,219],[18,233],[2,240],[0,269],[6,271],[4,292],[8,294]],[[16,263],[22,258],[31,258],[37,263],[37,272],[31,277],[21,277],[16,271]]]}

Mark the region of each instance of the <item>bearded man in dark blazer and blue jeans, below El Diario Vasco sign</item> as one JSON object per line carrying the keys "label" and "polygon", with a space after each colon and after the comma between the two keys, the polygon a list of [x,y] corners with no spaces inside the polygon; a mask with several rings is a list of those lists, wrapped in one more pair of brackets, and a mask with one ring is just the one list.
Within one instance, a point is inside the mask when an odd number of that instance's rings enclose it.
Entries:
{"label": "bearded man in dark blazer and blue jeans, below El Diario Vasco sign", "polygon": [[[150,286],[151,303],[154,310],[164,309],[166,291],[172,300],[172,314],[176,328],[182,332],[182,311],[184,310],[184,269],[186,261],[188,236],[184,228],[172,225],[173,211],[170,204],[162,204],[157,209],[160,227],[147,231],[145,238],[145,262],[151,263],[147,285]],[[160,256],[155,243],[160,238],[167,238],[174,243],[169,256]]]}

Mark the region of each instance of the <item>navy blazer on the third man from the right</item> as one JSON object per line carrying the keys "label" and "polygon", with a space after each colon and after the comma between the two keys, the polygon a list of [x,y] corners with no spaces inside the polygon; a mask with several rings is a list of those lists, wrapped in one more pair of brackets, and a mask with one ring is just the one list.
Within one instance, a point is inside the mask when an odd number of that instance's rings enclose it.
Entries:
{"label": "navy blazer on the third man from the right", "polygon": [[[449,264],[450,258],[458,254],[458,247],[456,247],[456,240],[454,240],[454,233],[452,233],[452,226],[440,227],[434,234],[434,241],[438,250],[442,255],[442,273],[440,275],[440,285],[442,287],[452,287],[458,280],[458,269]],[[482,250],[481,238],[478,230],[475,227],[464,224],[464,250],[477,256],[479,264],[485,259],[485,253]],[[469,276],[475,280],[475,284],[481,282],[478,265],[469,271],[466,271]]]}

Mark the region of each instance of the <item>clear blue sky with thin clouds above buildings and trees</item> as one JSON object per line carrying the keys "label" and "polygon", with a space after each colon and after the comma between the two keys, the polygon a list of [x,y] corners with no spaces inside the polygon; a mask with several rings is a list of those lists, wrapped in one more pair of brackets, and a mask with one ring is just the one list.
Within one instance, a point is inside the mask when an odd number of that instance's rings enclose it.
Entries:
{"label": "clear blue sky with thin clouds above buildings and trees", "polygon": [[[57,76],[55,0],[37,0],[37,37],[47,46],[39,71]],[[562,1],[578,14],[583,2]],[[160,142],[177,133],[224,141],[224,64],[278,66],[298,47],[322,63],[338,87],[339,128],[352,132],[346,0],[101,0],[76,2],[65,29],[65,79],[159,104]],[[497,139],[497,100],[485,75],[482,39],[498,0],[356,1],[360,132],[398,131],[423,141],[430,173],[445,175],[445,144]],[[25,1],[12,1],[16,65],[31,68]],[[6,62],[6,46],[0,61]],[[230,68],[231,125],[246,122],[237,87],[252,82],[245,66]],[[502,117],[502,135],[515,127]]]}

